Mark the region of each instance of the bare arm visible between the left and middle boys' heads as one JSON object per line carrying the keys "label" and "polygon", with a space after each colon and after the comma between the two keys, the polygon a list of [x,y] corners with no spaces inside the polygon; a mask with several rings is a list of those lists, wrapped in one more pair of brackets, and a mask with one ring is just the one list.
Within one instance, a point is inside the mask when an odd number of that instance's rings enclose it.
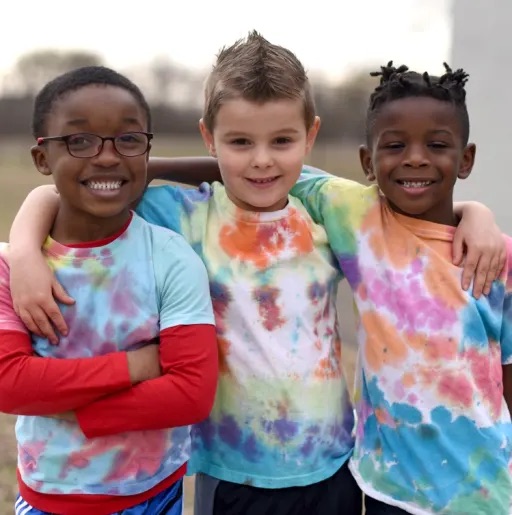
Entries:
{"label": "bare arm visible between the left and middle boys' heads", "polygon": [[213,157],[150,157],[148,183],[155,179],[199,186],[220,181],[221,176]]}

